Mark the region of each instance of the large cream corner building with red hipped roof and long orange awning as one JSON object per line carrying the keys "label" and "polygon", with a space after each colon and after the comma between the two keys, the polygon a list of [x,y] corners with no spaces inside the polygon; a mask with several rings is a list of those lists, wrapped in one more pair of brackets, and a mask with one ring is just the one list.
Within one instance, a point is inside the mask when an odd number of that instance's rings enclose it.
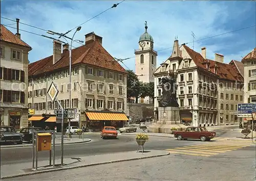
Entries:
{"label": "large cream corner building with red hipped roof and long orange awning", "polygon": [[[71,108],[75,109],[76,115],[71,125],[86,125],[94,130],[110,123],[121,126],[122,121],[127,120],[127,75],[102,47],[102,37],[89,33],[85,45],[72,49],[71,86],[68,45],[63,45],[61,52],[61,43],[54,41],[53,49],[53,56],[29,64],[29,107],[35,111],[34,114],[55,114],[55,110],[60,109],[57,101],[52,103],[47,95],[53,82],[58,87],[57,97],[65,109],[70,107],[71,91]],[[116,116],[119,119],[109,113],[120,113],[119,117]],[[44,119],[47,118],[41,120]]]}

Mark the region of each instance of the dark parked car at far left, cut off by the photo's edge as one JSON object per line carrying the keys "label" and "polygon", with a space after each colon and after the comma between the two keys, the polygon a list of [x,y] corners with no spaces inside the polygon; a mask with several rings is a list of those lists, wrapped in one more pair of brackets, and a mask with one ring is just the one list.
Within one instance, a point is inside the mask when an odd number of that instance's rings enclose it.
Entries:
{"label": "dark parked car at far left, cut off by the photo's edge", "polygon": [[1,143],[17,143],[22,144],[23,135],[15,131],[12,126],[0,126]]}

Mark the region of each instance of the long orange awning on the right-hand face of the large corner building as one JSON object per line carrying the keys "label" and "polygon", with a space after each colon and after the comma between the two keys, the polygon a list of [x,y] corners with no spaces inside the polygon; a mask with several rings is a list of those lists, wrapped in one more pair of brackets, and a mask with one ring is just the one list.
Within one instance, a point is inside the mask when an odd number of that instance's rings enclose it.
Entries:
{"label": "long orange awning on the right-hand face of the large corner building", "polygon": [[87,112],[86,115],[90,120],[96,121],[127,121],[127,116],[123,113],[95,113]]}

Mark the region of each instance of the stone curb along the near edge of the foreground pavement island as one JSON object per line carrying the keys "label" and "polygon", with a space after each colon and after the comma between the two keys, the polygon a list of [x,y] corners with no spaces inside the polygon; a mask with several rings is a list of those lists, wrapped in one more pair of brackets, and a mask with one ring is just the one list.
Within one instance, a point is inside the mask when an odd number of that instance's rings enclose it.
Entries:
{"label": "stone curb along the near edge of the foreground pavement island", "polygon": [[90,166],[96,166],[96,165],[104,165],[104,164],[110,164],[110,163],[118,163],[118,162],[126,162],[126,161],[133,161],[133,160],[150,159],[150,158],[167,156],[169,154],[170,153],[168,151],[166,151],[165,154],[158,154],[158,155],[154,155],[154,156],[145,156],[145,157],[140,157],[140,158],[115,160],[115,161],[102,162],[102,163],[94,163],[94,164],[87,164],[87,165],[80,165],[80,166],[73,166],[73,167],[67,167],[67,168],[56,168],[56,169],[50,169],[50,170],[34,171],[34,172],[18,174],[18,175],[3,176],[3,177],[1,177],[1,179],[14,178],[14,177],[20,177],[20,176],[28,176],[28,175],[36,175],[36,174],[40,174],[40,173],[47,173],[47,172],[61,171],[61,170],[70,170],[70,169],[75,169],[75,168],[83,168],[83,167],[90,167]]}

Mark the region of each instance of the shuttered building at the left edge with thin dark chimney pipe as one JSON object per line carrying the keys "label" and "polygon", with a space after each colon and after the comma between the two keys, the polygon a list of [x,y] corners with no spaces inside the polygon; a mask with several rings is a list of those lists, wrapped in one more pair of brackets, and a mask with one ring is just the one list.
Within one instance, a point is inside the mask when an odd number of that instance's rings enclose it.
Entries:
{"label": "shuttered building at the left edge with thin dark chimney pipe", "polygon": [[1,24],[0,119],[16,129],[28,125],[28,55],[32,49]]}

